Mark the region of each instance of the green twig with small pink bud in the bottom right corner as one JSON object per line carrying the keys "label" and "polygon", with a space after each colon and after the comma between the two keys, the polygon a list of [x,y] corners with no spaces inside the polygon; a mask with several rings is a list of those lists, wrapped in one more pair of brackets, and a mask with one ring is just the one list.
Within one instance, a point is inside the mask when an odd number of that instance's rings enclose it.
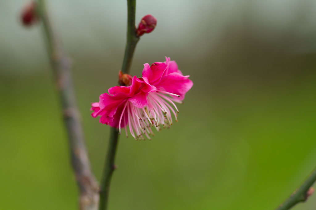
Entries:
{"label": "green twig with small pink bud in the bottom right corner", "polygon": [[316,181],[316,168],[309,174],[301,186],[296,189],[289,198],[284,201],[276,210],[288,210],[299,202],[306,201],[313,194],[314,189],[311,187]]}

